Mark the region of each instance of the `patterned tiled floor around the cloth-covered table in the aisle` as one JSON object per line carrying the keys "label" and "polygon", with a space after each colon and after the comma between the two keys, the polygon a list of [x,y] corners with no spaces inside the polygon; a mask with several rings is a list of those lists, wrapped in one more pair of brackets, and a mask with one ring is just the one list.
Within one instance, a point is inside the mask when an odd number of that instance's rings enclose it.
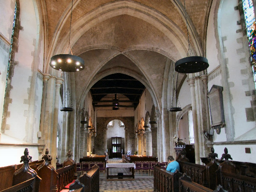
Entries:
{"label": "patterned tiled floor around the cloth-covered table in the aisle", "polygon": [[[108,163],[122,163],[122,159],[109,159]],[[127,171],[128,172],[128,171]],[[107,181],[106,174],[100,173],[100,192],[153,192],[154,177],[148,174],[135,174],[135,180]]]}

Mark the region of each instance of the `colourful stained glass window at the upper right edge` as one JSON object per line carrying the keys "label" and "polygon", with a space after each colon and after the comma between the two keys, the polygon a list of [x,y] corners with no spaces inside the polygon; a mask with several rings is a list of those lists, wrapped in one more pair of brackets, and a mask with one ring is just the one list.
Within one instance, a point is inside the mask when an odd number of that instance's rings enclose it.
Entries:
{"label": "colourful stained glass window at the upper right edge", "polygon": [[256,87],[256,22],[252,0],[243,0],[244,19],[249,39],[250,58],[253,68],[253,78]]}

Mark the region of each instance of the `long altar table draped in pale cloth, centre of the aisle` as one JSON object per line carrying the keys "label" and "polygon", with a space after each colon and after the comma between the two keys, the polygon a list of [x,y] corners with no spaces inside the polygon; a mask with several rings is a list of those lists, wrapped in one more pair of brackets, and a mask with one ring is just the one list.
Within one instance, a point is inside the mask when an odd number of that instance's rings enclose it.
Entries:
{"label": "long altar table draped in pale cloth, centre of the aisle", "polygon": [[[134,163],[107,163],[107,179],[108,178],[133,178],[134,179]],[[110,174],[111,170],[111,174]],[[131,172],[131,174],[129,174]]]}

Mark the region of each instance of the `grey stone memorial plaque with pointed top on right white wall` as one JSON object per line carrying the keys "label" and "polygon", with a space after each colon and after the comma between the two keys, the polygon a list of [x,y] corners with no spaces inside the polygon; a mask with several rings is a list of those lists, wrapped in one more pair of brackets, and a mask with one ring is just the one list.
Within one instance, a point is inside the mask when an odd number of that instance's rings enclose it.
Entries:
{"label": "grey stone memorial plaque with pointed top on right white wall", "polygon": [[220,134],[221,128],[225,126],[222,91],[223,87],[212,85],[208,93],[211,127],[215,129],[217,134]]}

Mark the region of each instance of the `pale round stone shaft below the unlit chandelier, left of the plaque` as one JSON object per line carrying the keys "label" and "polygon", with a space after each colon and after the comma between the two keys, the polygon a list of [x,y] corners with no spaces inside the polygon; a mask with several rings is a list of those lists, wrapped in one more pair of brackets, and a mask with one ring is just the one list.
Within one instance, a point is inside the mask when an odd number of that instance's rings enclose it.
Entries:
{"label": "pale round stone shaft below the unlit chandelier, left of the plaque", "polygon": [[194,127],[194,140],[195,140],[195,163],[200,164],[200,151],[199,151],[199,137],[198,137],[198,121],[196,111],[196,99],[195,99],[195,79],[188,79],[191,92],[191,105],[193,115],[193,127]]}

